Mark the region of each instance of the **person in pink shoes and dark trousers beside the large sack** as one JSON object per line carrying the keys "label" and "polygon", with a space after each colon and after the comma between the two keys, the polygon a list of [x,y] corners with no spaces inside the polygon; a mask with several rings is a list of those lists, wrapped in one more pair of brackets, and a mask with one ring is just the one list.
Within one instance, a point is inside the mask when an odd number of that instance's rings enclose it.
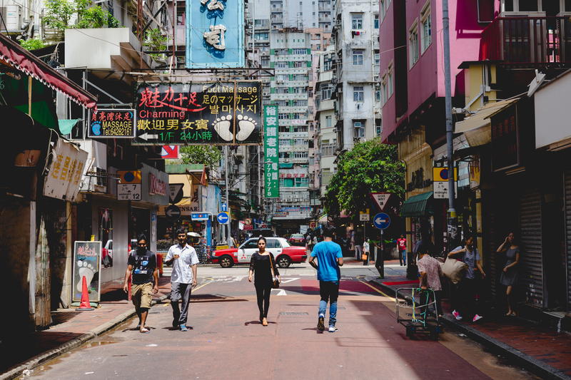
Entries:
{"label": "person in pink shoes and dark trousers beside the large sack", "polygon": [[453,316],[455,319],[463,319],[463,317],[472,317],[472,322],[482,319],[475,310],[475,295],[476,295],[476,277],[475,268],[480,271],[482,277],[485,277],[484,269],[482,269],[482,261],[480,259],[480,252],[474,247],[474,238],[471,236],[465,237],[464,246],[456,247],[452,252],[448,253],[448,257],[465,262],[468,268],[464,272],[462,281],[458,284],[453,284],[453,292],[451,294]]}

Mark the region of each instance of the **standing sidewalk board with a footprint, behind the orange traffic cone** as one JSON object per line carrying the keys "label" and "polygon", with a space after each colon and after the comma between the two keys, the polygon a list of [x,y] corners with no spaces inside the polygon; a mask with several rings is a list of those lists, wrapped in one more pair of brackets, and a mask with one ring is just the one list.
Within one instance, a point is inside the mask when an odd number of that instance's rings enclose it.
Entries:
{"label": "standing sidewalk board with a footprint, behind the orange traffic cone", "polygon": [[75,242],[74,282],[71,287],[72,301],[81,301],[81,285],[86,278],[90,302],[99,302],[101,287],[99,264],[101,262],[101,242]]}

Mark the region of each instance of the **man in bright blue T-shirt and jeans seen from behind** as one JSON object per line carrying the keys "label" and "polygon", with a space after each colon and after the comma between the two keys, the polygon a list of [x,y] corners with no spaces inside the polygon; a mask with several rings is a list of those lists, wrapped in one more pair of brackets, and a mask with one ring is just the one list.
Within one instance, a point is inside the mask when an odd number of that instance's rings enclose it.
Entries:
{"label": "man in bright blue T-shirt and jeans seen from behind", "polygon": [[[329,332],[336,332],[335,322],[337,322],[337,298],[339,297],[339,279],[341,277],[340,266],[343,265],[343,253],[341,247],[333,242],[334,230],[332,227],[325,228],[323,242],[319,242],[313,247],[313,252],[309,257],[309,264],[317,269],[317,279],[319,280],[319,317],[317,329],[320,332],[325,330],[323,321],[325,310],[329,301]],[[315,263],[317,257],[317,263]]]}

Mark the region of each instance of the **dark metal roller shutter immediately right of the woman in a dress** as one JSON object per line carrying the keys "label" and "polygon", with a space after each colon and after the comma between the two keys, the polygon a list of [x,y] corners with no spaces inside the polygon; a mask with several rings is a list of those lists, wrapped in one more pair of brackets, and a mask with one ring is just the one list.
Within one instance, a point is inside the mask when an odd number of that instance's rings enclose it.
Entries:
{"label": "dark metal roller shutter immediately right of the woman in a dress", "polygon": [[544,289],[541,226],[540,192],[525,190],[520,195],[520,280],[526,302],[537,307],[543,307]]}

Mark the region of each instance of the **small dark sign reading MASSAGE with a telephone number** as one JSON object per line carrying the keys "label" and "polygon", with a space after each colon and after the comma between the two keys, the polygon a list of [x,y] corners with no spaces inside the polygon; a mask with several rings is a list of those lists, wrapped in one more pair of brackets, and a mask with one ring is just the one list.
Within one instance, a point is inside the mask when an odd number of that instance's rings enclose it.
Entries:
{"label": "small dark sign reading MASSAGE with a telephone number", "polygon": [[91,111],[87,135],[89,138],[133,138],[135,137],[135,125],[135,110]]}

